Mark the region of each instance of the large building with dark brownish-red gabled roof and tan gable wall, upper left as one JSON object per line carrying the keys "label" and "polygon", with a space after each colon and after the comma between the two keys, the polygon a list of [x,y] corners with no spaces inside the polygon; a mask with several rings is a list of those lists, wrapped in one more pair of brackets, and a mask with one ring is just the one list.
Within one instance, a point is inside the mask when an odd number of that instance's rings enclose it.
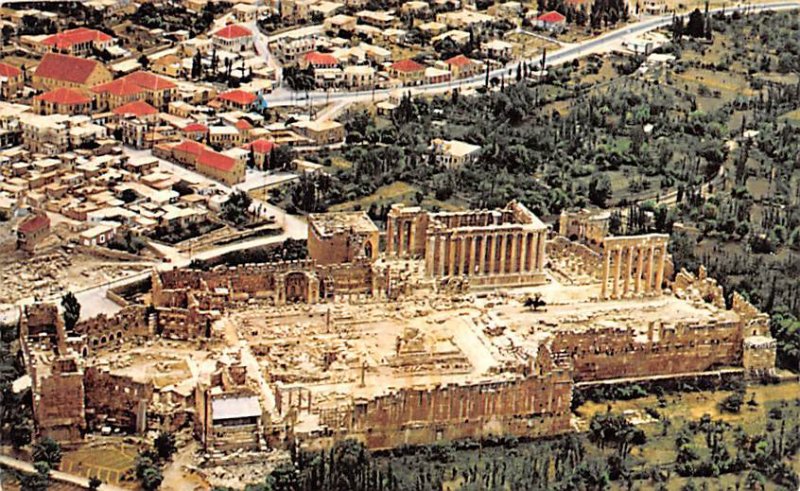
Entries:
{"label": "large building with dark brownish-red gabled roof and tan gable wall, upper left", "polygon": [[43,90],[59,87],[87,90],[111,79],[111,72],[98,61],[47,53],[33,73],[33,86]]}

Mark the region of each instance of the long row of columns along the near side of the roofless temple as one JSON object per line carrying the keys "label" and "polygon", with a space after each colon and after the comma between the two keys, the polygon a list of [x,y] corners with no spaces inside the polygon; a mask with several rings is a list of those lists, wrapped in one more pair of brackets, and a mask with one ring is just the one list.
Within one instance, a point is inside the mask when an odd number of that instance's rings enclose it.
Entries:
{"label": "long row of columns along the near side of the roofless temple", "polygon": [[430,276],[504,275],[541,271],[545,232],[432,235],[425,247]]}

